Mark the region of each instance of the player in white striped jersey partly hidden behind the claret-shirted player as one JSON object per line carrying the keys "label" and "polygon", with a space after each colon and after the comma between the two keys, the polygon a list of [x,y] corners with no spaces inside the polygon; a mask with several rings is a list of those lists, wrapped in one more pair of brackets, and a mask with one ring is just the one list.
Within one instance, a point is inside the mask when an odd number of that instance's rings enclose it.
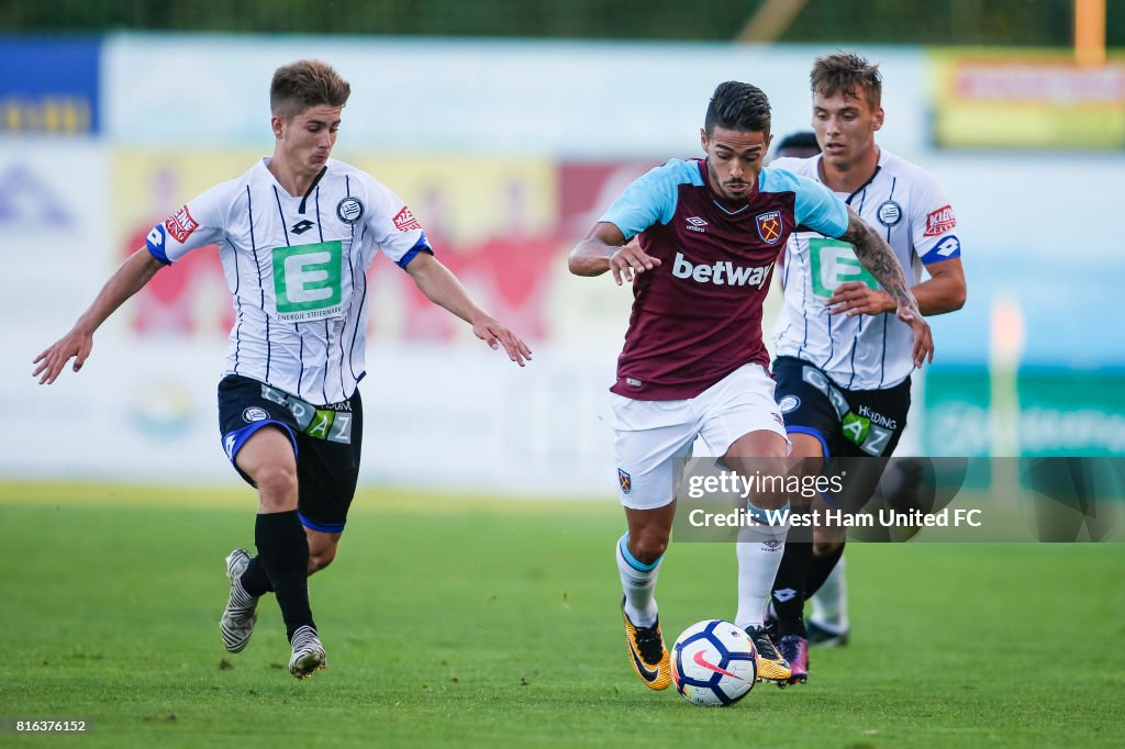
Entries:
{"label": "player in white striped jersey partly hidden behind the claret-shirted player", "polygon": [[[908,272],[924,315],[960,309],[965,278],[953,209],[927,172],[875,145],[883,125],[878,65],[855,54],[832,54],[816,61],[810,80],[812,128],[824,153],[776,159],[771,166],[824,184],[876,226],[893,249],[896,265]],[[911,331],[891,314],[896,292],[863,272],[857,255],[862,259],[857,247],[822,232],[793,234],[785,249],[774,377],[793,454],[810,471],[832,457],[881,466],[907,423],[910,373],[918,364]],[[868,497],[860,497],[861,503]],[[794,513],[808,509],[794,507]],[[843,530],[818,526],[812,541],[786,544],[771,601],[794,683],[808,677],[804,601],[837,563]],[[836,632],[821,634],[844,635],[846,629],[844,621]]]}

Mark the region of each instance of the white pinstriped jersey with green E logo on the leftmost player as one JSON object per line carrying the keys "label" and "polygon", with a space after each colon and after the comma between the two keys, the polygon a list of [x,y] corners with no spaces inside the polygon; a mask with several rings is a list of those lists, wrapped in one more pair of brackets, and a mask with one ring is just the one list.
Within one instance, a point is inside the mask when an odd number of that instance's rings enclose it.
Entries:
{"label": "white pinstriped jersey with green E logo on the leftmost player", "polygon": [[254,164],[153,227],[148,252],[174,263],[217,245],[234,297],[226,373],[316,405],[346,400],[364,373],[367,268],[433,252],[411,210],[370,174],[328,160],[304,196]]}

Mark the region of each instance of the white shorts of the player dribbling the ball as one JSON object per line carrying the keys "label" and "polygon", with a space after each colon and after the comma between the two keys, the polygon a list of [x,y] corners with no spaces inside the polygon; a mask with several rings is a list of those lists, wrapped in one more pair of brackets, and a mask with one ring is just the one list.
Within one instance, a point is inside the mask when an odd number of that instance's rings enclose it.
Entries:
{"label": "white shorts of the player dribbling the ball", "polygon": [[618,489],[631,509],[656,509],[676,498],[683,479],[677,473],[698,436],[716,458],[750,432],[773,432],[789,442],[774,381],[759,364],[739,367],[685,400],[610,397]]}

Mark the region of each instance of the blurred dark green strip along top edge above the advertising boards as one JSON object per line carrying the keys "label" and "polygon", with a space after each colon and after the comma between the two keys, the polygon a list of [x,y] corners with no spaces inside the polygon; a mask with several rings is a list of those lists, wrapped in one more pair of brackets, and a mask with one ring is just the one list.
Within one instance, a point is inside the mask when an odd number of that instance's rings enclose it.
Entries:
{"label": "blurred dark green strip along top edge above the advertising boards", "polygon": [[[930,44],[1069,47],[1072,0],[367,0],[220,2],[144,0],[44,4],[12,0],[0,28],[12,31],[233,31],[406,36],[546,37],[728,42],[763,7],[791,21],[783,43]],[[1125,44],[1125,6],[1106,4],[1109,46]]]}

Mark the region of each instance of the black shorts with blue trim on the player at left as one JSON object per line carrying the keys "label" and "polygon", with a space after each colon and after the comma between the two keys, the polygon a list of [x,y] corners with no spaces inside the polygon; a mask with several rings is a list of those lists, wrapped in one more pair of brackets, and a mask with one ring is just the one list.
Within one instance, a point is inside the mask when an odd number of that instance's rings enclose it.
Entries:
{"label": "black shorts with blue trim on the player at left", "polygon": [[238,450],[258,430],[274,426],[292,442],[297,458],[297,511],[306,527],[339,533],[356,496],[363,441],[359,390],[342,403],[316,406],[258,380],[228,374],[218,383],[223,450],[238,475]]}

